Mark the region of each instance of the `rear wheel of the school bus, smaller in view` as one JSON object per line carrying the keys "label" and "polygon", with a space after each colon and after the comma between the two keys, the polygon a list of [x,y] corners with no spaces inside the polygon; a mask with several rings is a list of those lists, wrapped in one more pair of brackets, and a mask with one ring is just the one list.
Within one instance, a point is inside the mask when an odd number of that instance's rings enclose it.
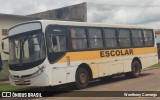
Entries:
{"label": "rear wheel of the school bus, smaller in view", "polygon": [[141,75],[141,64],[138,61],[132,63],[132,71],[125,73],[126,77],[137,78]]}

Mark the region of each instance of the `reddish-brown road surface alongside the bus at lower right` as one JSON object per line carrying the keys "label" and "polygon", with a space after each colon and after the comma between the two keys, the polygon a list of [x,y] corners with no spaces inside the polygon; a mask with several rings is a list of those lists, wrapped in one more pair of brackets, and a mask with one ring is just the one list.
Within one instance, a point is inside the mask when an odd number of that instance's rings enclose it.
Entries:
{"label": "reddish-brown road surface alongside the bus at lower right", "polygon": [[[83,91],[159,91],[160,92],[160,69],[143,71],[139,78],[126,78],[119,76],[111,80],[96,81],[90,83],[89,87],[83,90],[75,90],[72,87],[59,87],[60,90],[70,90],[68,93],[58,93],[51,97],[40,98],[39,100],[159,100],[153,97],[83,97]],[[80,91],[80,92],[77,92]],[[61,97],[65,94],[74,96],[75,92],[81,97]],[[90,92],[92,93],[92,92]],[[98,93],[98,92],[97,92]],[[93,94],[95,96],[96,94]],[[59,97],[57,97],[59,96]]]}

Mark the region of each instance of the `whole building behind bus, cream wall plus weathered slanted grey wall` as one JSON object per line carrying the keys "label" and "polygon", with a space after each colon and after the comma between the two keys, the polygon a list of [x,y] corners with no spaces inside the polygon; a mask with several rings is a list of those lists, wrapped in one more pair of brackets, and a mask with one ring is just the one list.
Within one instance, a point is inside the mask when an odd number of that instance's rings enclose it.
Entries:
{"label": "whole building behind bus, cream wall plus weathered slanted grey wall", "polygon": [[[8,36],[8,29],[17,23],[37,19],[65,20],[65,21],[87,21],[86,3],[76,4],[54,10],[48,10],[27,16],[0,14],[0,40]],[[3,40],[3,50],[0,41],[0,53],[3,60],[8,60],[8,39]],[[2,52],[3,51],[3,52]],[[5,52],[5,53],[4,53]]]}

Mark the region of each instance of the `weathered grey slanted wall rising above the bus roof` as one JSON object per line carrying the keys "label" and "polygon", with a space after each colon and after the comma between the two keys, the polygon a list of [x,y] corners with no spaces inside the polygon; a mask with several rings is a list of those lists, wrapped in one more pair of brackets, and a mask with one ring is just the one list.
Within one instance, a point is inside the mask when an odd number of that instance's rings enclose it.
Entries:
{"label": "weathered grey slanted wall rising above the bus roof", "polygon": [[81,3],[59,9],[48,10],[40,13],[27,15],[41,19],[64,20],[64,21],[87,21],[87,4]]}

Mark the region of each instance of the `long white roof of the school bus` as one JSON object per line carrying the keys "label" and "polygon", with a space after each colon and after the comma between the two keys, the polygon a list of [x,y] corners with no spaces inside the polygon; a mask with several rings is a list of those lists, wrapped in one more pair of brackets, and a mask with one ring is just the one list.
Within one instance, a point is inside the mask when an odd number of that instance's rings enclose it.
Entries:
{"label": "long white roof of the school bus", "polygon": [[[60,21],[60,20],[33,20],[33,21],[26,21],[20,24],[31,23],[31,22],[40,22],[45,24],[46,26],[49,24],[56,24],[56,25],[68,25],[68,26],[88,26],[88,27],[110,27],[110,28],[135,28],[135,29],[153,29],[146,26],[139,26],[139,25],[125,25],[125,24],[108,24],[108,23],[93,23],[93,22],[75,22],[75,21]],[[15,25],[15,26],[17,26]],[[12,28],[14,28],[13,26]],[[12,29],[10,28],[10,29]]]}

